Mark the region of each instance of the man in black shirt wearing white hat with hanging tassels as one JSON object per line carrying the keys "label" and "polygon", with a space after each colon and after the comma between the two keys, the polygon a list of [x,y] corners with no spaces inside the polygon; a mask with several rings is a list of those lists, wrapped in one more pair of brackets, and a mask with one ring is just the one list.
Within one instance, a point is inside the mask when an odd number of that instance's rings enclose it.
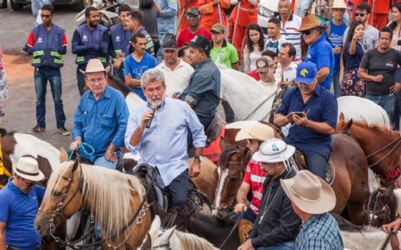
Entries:
{"label": "man in black shirt wearing white hat with hanging tassels", "polygon": [[259,215],[249,232],[249,239],[239,250],[294,248],[301,220],[279,181],[295,176],[291,163],[294,152],[295,147],[282,139],[272,138],[263,142],[259,151],[252,155],[268,178],[264,182]]}

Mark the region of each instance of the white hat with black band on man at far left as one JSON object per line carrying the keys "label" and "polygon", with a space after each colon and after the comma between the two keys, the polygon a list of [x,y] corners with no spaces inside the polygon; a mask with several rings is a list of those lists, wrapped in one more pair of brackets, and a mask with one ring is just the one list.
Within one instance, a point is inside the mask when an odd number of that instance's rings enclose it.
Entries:
{"label": "white hat with black band on man at far left", "polygon": [[33,157],[21,157],[13,165],[13,170],[19,176],[33,181],[40,181],[45,177],[43,172],[39,170],[38,161]]}

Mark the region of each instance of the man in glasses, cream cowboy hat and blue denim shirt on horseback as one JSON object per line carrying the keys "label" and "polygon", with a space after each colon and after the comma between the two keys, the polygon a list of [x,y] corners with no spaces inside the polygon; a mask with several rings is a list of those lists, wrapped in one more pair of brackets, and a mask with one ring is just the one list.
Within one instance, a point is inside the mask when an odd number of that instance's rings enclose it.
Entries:
{"label": "man in glasses, cream cowboy hat and blue denim shirt on horseback", "polygon": [[[86,70],[81,70],[90,90],[81,96],[75,111],[70,149],[94,165],[115,169],[129,112],[122,93],[107,85],[106,70],[99,59],[90,59]],[[80,142],[92,145],[94,153],[88,154]]]}

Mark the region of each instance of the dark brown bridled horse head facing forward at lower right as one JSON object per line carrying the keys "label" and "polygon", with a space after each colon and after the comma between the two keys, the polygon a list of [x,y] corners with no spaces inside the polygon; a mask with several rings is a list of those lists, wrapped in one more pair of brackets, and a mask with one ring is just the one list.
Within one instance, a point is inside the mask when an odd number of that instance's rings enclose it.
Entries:
{"label": "dark brown bridled horse head facing forward at lower right", "polygon": [[393,194],[394,185],[369,191],[366,183],[362,183],[364,205],[362,218],[371,226],[381,226],[396,218],[397,200]]}

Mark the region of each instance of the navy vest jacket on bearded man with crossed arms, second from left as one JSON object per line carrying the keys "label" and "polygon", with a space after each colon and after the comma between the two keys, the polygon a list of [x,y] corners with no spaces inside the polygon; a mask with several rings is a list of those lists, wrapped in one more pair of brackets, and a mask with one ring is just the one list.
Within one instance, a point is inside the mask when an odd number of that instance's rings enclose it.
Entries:
{"label": "navy vest jacket on bearded man with crossed arms, second from left", "polygon": [[[107,39],[103,37],[104,35]],[[109,60],[109,42],[109,33],[105,26],[98,24],[93,30],[90,30],[86,23],[78,26],[72,40],[72,52],[77,54],[75,63],[86,65],[89,59],[99,58],[106,66]]]}

